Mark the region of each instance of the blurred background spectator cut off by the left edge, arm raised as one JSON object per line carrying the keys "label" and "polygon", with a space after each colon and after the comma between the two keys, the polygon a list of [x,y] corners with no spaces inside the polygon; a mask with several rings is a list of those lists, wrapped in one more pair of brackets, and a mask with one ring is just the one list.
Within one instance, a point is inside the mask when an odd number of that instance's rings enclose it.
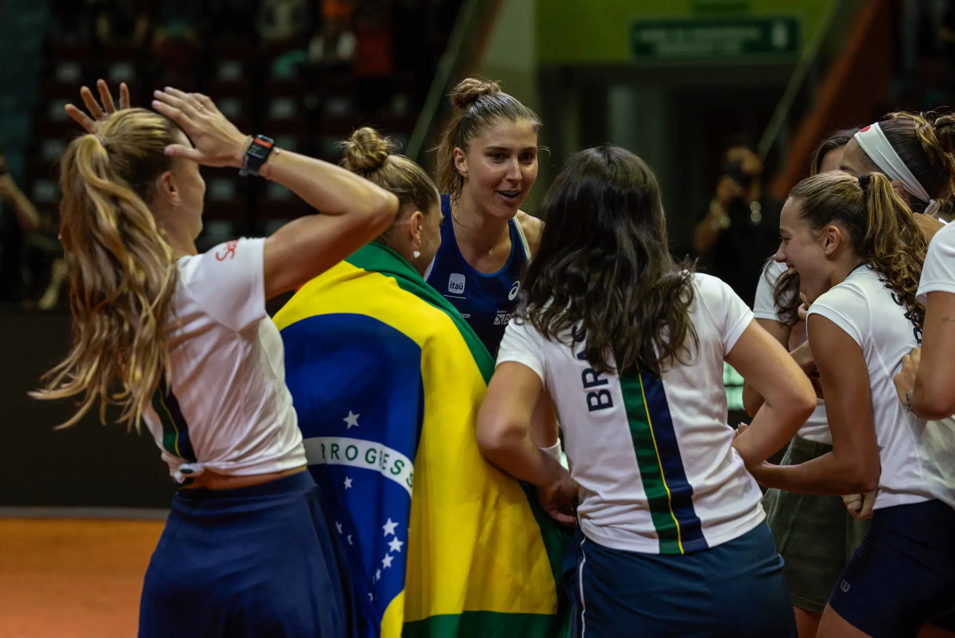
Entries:
{"label": "blurred background spectator cut off by the left edge, arm raised", "polygon": [[23,296],[23,250],[40,216],[7,170],[0,149],[0,303],[18,303]]}

